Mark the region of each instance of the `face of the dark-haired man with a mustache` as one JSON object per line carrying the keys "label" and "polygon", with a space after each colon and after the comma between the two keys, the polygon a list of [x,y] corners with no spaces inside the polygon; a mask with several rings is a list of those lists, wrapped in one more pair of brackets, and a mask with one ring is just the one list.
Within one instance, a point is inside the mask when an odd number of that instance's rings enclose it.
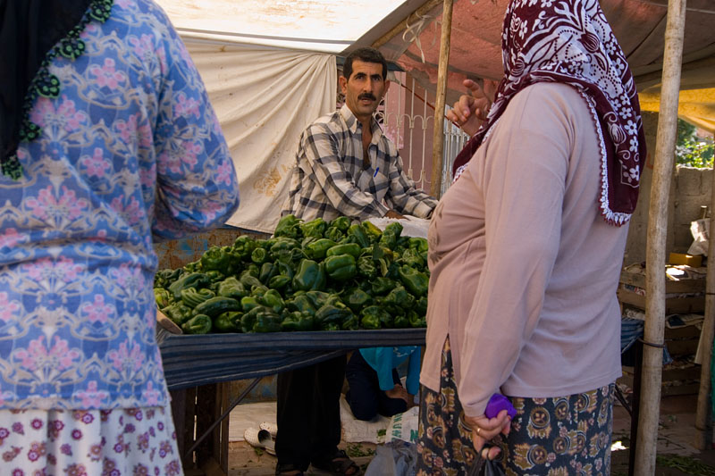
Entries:
{"label": "face of the dark-haired man with a mustache", "polygon": [[383,65],[380,63],[365,63],[360,60],[352,62],[352,73],[349,79],[341,76],[342,94],[350,111],[358,121],[366,121],[377,109],[377,104],[383,99],[390,81],[383,79]]}

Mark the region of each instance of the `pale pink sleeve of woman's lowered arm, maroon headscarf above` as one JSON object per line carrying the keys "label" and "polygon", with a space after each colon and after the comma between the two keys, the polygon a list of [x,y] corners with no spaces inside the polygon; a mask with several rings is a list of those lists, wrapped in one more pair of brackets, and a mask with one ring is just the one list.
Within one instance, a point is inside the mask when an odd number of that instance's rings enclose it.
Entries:
{"label": "pale pink sleeve of woman's lowered arm, maroon headscarf above", "polygon": [[458,393],[469,416],[484,414],[513,371],[539,321],[559,253],[572,138],[558,107],[548,97],[529,99],[527,91],[512,100],[504,127],[487,143],[484,164],[477,165],[484,173],[471,174],[483,189],[487,254],[460,350]]}

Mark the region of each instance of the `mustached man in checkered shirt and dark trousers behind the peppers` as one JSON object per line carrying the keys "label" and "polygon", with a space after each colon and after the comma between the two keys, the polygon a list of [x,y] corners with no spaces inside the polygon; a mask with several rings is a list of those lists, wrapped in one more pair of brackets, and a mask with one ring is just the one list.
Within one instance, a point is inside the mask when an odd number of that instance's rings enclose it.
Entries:
{"label": "mustached man in checkered shirt and dark trousers behind the peppers", "polygon": [[[300,136],[282,214],[306,221],[341,215],[360,221],[405,214],[430,218],[437,201],[415,188],[397,147],[373,117],[390,87],[383,55],[373,48],[349,54],[340,84],[345,105]],[[333,474],[360,473],[338,450],[345,364],[340,356],[278,375],[276,474],[300,475],[311,463]]]}

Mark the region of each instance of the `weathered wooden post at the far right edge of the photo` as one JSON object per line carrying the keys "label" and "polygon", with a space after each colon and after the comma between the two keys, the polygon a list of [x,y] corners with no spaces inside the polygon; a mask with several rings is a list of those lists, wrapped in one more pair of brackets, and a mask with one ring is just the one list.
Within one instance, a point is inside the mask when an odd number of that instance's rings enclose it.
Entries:
{"label": "weathered wooden post at the far right edge of the photo", "polygon": [[[715,172],[712,173],[711,212],[715,210]],[[715,338],[715,216],[711,214],[710,238],[708,240],[708,273],[705,281],[705,321],[702,322],[700,345],[703,347],[702,366],[700,370],[700,391],[698,392],[698,407],[695,412],[694,446],[699,450],[710,447],[712,443],[711,414],[711,358],[712,340]]]}

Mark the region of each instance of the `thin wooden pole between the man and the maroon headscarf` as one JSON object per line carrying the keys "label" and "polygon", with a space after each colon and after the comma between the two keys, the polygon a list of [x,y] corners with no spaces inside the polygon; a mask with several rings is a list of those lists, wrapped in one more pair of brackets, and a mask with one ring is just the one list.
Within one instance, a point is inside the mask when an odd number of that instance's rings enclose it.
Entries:
{"label": "thin wooden pole between the man and the maroon headscarf", "polygon": [[450,65],[450,35],[452,29],[452,0],[444,0],[442,9],[442,38],[440,38],[440,67],[437,71],[437,100],[434,105],[434,134],[432,147],[432,196],[442,195],[442,154],[444,151],[444,103],[447,96],[447,67]]}

